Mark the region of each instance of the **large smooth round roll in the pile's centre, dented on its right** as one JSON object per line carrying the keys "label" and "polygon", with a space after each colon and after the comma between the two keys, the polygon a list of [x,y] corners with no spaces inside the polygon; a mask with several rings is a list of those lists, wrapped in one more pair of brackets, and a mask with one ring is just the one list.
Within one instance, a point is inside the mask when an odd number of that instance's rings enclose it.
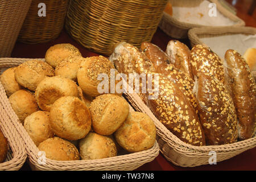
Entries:
{"label": "large smooth round roll in the pile's centre, dented on its right", "polygon": [[60,97],[52,105],[49,117],[55,135],[67,140],[84,138],[92,125],[90,110],[77,97]]}

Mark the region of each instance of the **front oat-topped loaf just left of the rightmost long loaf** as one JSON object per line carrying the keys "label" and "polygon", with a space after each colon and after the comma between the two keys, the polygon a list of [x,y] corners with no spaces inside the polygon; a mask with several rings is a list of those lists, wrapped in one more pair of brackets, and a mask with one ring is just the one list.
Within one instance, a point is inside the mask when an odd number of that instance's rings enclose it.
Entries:
{"label": "front oat-topped loaf just left of the rightmost long loaf", "polygon": [[207,144],[236,142],[236,109],[224,84],[214,76],[201,74],[195,83],[194,91]]}

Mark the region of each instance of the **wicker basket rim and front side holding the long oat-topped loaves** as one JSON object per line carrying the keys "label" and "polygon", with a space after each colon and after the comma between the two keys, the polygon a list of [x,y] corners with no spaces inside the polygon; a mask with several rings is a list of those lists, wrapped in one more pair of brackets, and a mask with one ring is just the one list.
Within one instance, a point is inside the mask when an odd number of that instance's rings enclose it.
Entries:
{"label": "wicker basket rim and front side holding the long oat-topped loaves", "polygon": [[[256,73],[254,77],[256,77]],[[176,166],[195,167],[209,164],[209,159],[212,156],[211,151],[216,152],[216,160],[217,162],[221,162],[256,146],[256,135],[253,138],[232,144],[201,147],[192,146],[181,141],[160,123],[137,94],[126,94],[126,98],[135,110],[146,113],[153,119],[156,125],[156,140],[158,141],[160,152],[168,161]]]}

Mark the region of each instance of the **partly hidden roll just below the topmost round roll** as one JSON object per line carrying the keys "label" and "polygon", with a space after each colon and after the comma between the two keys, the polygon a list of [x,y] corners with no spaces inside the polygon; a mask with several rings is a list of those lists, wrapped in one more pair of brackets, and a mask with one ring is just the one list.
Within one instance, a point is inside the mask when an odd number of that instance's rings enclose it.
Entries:
{"label": "partly hidden roll just below the topmost round roll", "polygon": [[77,71],[80,67],[81,61],[85,58],[82,56],[68,57],[61,61],[55,68],[55,75],[69,78],[77,81]]}

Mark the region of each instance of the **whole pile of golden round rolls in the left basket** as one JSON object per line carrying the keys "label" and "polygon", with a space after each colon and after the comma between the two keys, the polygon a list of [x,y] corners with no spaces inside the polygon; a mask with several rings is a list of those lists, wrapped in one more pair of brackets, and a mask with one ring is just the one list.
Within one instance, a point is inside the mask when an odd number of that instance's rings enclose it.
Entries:
{"label": "whole pile of golden round rolls in the left basket", "polygon": [[[56,44],[45,60],[26,61],[0,78],[20,122],[47,158],[102,159],[121,148],[138,152],[154,146],[156,129],[147,114],[130,111],[120,93],[98,92],[98,75],[110,79],[114,69],[106,57],[82,57],[71,44]],[[0,151],[1,162],[2,146]]]}

